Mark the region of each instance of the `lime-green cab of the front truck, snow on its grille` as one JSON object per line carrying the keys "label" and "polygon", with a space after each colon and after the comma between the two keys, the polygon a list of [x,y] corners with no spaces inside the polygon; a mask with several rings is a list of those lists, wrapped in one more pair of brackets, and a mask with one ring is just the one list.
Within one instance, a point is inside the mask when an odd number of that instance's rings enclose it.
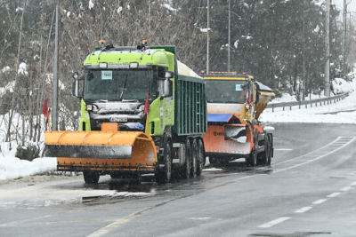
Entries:
{"label": "lime-green cab of the front truck, snow on its grille", "polygon": [[[73,95],[82,101],[80,130],[117,122],[117,130],[162,135],[174,125],[174,68],[174,53],[164,49],[107,46],[94,51],[73,86]],[[145,106],[150,107],[149,122]]]}

